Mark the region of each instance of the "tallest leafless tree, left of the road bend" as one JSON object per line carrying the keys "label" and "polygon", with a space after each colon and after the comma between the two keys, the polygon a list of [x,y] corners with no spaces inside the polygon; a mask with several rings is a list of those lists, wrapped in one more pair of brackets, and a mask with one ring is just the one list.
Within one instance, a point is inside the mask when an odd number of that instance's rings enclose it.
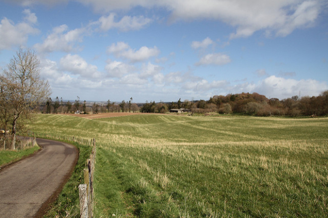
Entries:
{"label": "tallest leafless tree, left of the road bend", "polygon": [[49,82],[40,78],[39,64],[34,51],[19,48],[3,71],[8,106],[12,110],[12,149],[15,149],[18,119],[31,114],[38,103],[51,94]]}

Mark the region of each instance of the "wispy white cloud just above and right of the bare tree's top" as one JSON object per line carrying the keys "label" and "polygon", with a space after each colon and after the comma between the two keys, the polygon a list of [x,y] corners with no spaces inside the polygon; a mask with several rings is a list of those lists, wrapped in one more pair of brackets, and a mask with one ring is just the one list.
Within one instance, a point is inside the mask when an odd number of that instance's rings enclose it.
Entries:
{"label": "wispy white cloud just above and right of the bare tree's top", "polygon": [[69,30],[68,26],[63,24],[55,27],[43,43],[36,44],[35,48],[41,53],[71,52],[77,42],[82,42],[84,32],[84,28]]}

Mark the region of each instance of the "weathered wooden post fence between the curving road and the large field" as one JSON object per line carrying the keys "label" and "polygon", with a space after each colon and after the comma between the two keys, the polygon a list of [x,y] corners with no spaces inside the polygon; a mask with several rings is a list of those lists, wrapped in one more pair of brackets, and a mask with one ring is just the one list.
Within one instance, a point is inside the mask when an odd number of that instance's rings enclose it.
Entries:
{"label": "weathered wooden post fence between the curving road and the large field", "polygon": [[45,137],[51,139],[66,140],[71,142],[77,142],[82,145],[91,145],[92,151],[90,158],[85,162],[85,168],[83,169],[83,181],[84,184],[79,185],[79,197],[80,197],[80,217],[92,218],[93,217],[93,174],[95,169],[95,156],[96,156],[96,143],[95,139],[83,139],[76,138],[74,136],[54,136],[51,134],[37,134],[36,137]]}

